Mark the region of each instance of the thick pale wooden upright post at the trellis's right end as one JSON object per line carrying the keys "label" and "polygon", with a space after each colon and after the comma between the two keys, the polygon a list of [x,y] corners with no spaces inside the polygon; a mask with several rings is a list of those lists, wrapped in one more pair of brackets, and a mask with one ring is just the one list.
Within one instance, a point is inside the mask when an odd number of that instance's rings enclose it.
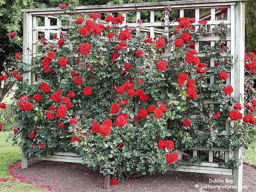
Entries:
{"label": "thick pale wooden upright post at the trellis's right end", "polygon": [[[241,106],[244,104],[244,34],[245,34],[245,3],[237,2],[235,6],[235,50],[234,50],[234,97]],[[241,113],[243,114],[242,108]],[[243,181],[243,156],[242,149],[233,151],[234,157],[241,161],[238,168],[233,168],[233,186],[236,187],[234,191],[242,192]]]}

